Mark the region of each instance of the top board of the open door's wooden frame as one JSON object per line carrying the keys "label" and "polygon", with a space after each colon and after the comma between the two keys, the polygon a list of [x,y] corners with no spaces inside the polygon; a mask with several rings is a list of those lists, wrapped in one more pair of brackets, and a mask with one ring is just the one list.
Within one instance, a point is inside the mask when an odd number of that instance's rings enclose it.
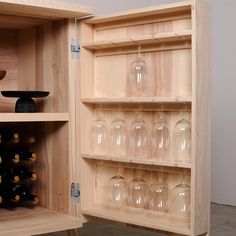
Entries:
{"label": "top board of the open door's wooden frame", "polygon": [[152,6],[152,7],[147,7],[147,8],[119,12],[116,14],[109,14],[109,15],[105,15],[105,16],[94,17],[93,19],[85,21],[85,23],[87,23],[87,24],[101,24],[101,23],[107,23],[107,22],[111,22],[111,21],[133,19],[133,18],[138,18],[138,17],[143,17],[143,16],[151,16],[151,15],[156,15],[156,14],[179,12],[179,11],[190,10],[191,6],[192,6],[191,1],[184,1],[184,2],[179,2],[179,3],[174,3],[174,4]]}

